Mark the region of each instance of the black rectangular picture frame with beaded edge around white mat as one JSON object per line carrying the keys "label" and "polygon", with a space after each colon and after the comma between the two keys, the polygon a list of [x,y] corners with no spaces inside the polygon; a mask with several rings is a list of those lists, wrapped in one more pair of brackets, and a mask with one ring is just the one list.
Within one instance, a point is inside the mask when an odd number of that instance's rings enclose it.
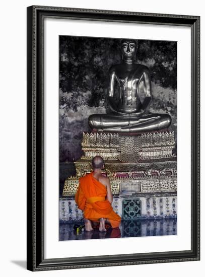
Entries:
{"label": "black rectangular picture frame with beaded edge around white mat", "polygon": [[[80,20],[189,26],[191,28],[191,250],[106,256],[44,258],[43,20]],[[200,17],[59,7],[27,8],[27,269],[32,271],[200,259]]]}

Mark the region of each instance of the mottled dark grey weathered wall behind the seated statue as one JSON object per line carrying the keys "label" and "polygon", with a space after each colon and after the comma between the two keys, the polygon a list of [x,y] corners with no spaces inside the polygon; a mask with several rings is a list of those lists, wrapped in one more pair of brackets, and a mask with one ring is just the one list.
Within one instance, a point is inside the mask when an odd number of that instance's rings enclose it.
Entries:
{"label": "mottled dark grey weathered wall behind the seated statue", "polygon": [[[82,155],[83,132],[91,131],[88,117],[109,111],[108,71],[121,62],[120,40],[59,37],[59,151],[60,162]],[[139,40],[136,62],[150,68],[151,112],[168,113],[170,130],[177,128],[177,42]]]}

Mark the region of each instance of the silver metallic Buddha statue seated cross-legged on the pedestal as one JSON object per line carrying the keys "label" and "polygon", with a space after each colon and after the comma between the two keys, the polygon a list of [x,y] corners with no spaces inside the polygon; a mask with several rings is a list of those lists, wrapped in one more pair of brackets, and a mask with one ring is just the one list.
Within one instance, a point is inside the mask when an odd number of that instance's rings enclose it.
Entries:
{"label": "silver metallic Buddha statue seated cross-legged on the pedestal", "polygon": [[134,133],[160,130],[171,124],[170,115],[148,110],[152,99],[150,71],[135,62],[137,47],[135,40],[121,41],[122,62],[109,70],[108,101],[112,112],[90,115],[91,128]]}

